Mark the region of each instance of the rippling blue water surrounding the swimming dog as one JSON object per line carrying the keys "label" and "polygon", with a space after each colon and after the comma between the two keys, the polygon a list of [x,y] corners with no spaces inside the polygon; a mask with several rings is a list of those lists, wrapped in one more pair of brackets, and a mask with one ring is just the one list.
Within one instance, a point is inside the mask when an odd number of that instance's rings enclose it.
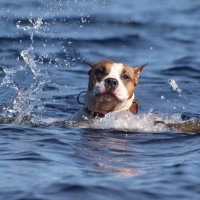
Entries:
{"label": "rippling blue water surrounding the swimming dog", "polygon": [[[2,0],[0,199],[199,199],[199,134],[154,124],[199,123],[199,9],[197,0]],[[84,59],[149,63],[139,115],[69,122],[87,87]]]}

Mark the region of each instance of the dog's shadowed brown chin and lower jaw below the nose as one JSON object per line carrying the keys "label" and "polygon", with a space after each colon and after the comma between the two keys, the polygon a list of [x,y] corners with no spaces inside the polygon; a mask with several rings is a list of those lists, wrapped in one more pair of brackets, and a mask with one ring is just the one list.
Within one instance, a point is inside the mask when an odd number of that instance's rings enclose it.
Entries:
{"label": "dog's shadowed brown chin and lower jaw below the nose", "polygon": [[120,100],[111,92],[96,94],[97,107],[104,112],[111,112],[119,104]]}

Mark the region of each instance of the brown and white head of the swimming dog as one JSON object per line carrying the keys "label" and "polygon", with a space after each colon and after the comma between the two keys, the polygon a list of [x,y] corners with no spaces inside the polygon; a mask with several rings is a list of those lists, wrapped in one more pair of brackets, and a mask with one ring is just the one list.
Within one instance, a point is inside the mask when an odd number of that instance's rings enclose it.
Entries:
{"label": "brown and white head of the swimming dog", "polygon": [[128,110],[134,99],[134,87],[145,65],[132,68],[113,61],[89,65],[86,107],[103,114]]}

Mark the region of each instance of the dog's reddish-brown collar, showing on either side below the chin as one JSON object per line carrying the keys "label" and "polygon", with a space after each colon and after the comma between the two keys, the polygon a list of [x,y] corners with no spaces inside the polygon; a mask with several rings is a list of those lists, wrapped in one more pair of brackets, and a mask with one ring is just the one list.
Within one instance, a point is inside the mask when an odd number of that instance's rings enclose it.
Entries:
{"label": "dog's reddish-brown collar, showing on either side below the chin", "polygon": [[[139,101],[137,99],[133,100],[131,107],[129,108],[129,111],[133,114],[137,114],[138,113],[138,108],[139,108]],[[104,113],[100,113],[100,112],[95,112],[95,111],[91,111],[89,108],[85,108],[85,112],[91,117],[91,118],[96,118],[96,117],[100,117],[103,118],[105,117]]]}

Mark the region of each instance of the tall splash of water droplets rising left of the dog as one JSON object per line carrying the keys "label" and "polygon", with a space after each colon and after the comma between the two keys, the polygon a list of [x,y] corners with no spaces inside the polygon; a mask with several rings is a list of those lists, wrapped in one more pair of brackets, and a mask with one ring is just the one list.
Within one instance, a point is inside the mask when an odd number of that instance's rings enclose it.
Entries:
{"label": "tall splash of water droplets rising left of the dog", "polygon": [[[10,86],[12,85],[11,87],[13,87],[16,92],[16,96],[14,98],[14,101],[12,102],[12,105],[10,105],[4,112],[4,115],[6,115],[6,117],[15,118],[15,123],[21,123],[24,117],[31,114],[33,108],[39,102],[39,97],[45,83],[44,75],[46,74],[43,74],[37,65],[37,60],[33,47],[33,36],[34,33],[40,31],[40,27],[43,24],[42,18],[33,20],[32,15],[30,14],[29,22],[30,24],[26,26],[21,25],[20,21],[18,21],[16,24],[18,29],[24,30],[30,36],[30,46],[20,53],[26,65],[19,67],[17,70],[14,70],[14,72],[10,72],[9,70],[5,69],[6,76],[5,80],[3,80],[4,84],[9,83]],[[27,82],[30,83],[29,88],[19,87],[13,81],[14,75],[16,76],[17,73],[24,71],[26,73],[32,73],[31,77],[33,80],[27,80]],[[29,79],[30,77],[25,76],[25,78]]]}

